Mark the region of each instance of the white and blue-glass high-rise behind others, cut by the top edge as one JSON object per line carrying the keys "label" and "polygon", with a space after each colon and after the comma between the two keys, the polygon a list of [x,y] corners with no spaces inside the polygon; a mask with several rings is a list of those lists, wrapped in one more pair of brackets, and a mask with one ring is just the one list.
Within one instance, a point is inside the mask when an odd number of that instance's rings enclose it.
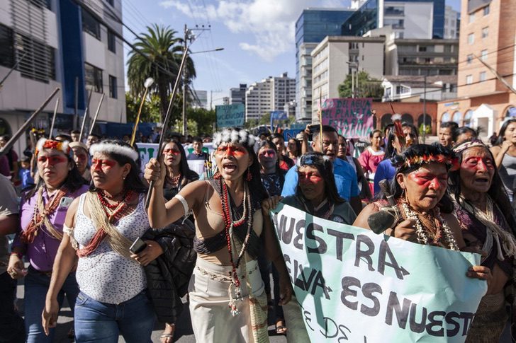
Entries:
{"label": "white and blue-glass high-rise behind others, cut by the top edge", "polygon": [[391,25],[398,38],[444,37],[444,0],[366,0],[342,24],[342,35],[361,36]]}

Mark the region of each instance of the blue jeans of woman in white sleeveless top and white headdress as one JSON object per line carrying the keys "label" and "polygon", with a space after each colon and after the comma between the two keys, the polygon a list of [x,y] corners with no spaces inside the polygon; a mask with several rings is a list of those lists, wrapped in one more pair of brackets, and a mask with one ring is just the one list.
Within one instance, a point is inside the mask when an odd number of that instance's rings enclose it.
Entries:
{"label": "blue jeans of woman in white sleeveless top and white headdress", "polygon": [[76,343],[117,343],[119,334],[128,343],[152,343],[154,323],[155,313],[145,291],[118,305],[101,303],[82,292],[77,296]]}

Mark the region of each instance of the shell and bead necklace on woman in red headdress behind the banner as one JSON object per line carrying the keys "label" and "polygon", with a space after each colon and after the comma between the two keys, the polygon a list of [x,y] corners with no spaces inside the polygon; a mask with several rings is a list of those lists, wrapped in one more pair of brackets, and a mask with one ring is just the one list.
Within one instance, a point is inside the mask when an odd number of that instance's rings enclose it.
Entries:
{"label": "shell and bead necklace on woman in red headdress behind the banner", "polygon": [[430,239],[428,236],[428,229],[422,225],[420,216],[417,214],[417,212],[413,211],[413,209],[410,209],[407,202],[401,202],[401,206],[403,207],[403,211],[405,211],[405,216],[407,217],[407,219],[412,219],[415,221],[417,243],[423,245],[438,245],[439,240],[441,240],[442,236],[444,236],[444,242],[448,249],[459,250],[459,246],[457,245],[454,235],[451,232],[451,228],[449,228],[447,222],[444,221],[444,219],[442,219],[439,207],[434,207],[433,209],[435,233],[434,238]]}

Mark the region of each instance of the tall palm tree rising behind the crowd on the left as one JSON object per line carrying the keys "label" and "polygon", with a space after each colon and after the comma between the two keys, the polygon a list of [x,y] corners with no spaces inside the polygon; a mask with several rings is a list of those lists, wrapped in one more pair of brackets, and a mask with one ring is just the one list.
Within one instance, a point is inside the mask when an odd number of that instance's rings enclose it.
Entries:
{"label": "tall palm tree rising behind the crowd on the left", "polygon": [[[167,114],[170,95],[183,57],[184,40],[176,37],[177,31],[162,25],[147,26],[147,33],[142,33],[134,44],[138,51],[132,50],[128,60],[128,83],[131,95],[141,98],[145,79],[152,77],[155,83],[149,88],[151,94],[159,96],[159,112],[162,122]],[[196,77],[194,62],[186,58],[186,85]],[[175,107],[175,106],[174,106]],[[174,111],[172,121],[179,118],[179,111]]]}

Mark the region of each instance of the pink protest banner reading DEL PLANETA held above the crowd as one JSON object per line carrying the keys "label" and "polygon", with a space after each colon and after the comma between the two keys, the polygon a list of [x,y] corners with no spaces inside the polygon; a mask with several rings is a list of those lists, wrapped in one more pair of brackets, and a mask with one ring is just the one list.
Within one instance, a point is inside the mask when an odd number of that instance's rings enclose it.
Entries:
{"label": "pink protest banner reading DEL PLANETA held above the crowd", "polygon": [[322,124],[346,138],[367,138],[373,131],[372,98],[330,98],[322,102]]}

